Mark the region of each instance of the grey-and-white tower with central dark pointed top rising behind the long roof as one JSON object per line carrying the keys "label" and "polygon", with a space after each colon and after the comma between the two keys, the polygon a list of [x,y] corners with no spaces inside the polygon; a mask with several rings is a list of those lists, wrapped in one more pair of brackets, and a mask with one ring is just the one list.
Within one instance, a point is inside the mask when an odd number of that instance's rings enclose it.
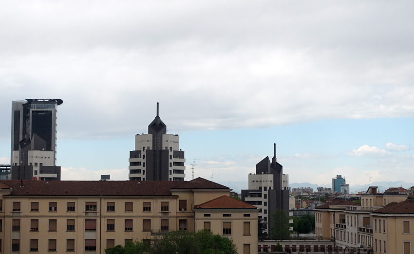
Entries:
{"label": "grey-and-white tower with central dark pointed top rising behind the long roof", "polygon": [[135,136],[135,151],[130,151],[131,181],[184,181],[186,167],[180,137],[167,134],[167,126],[157,116],[148,126],[148,134]]}

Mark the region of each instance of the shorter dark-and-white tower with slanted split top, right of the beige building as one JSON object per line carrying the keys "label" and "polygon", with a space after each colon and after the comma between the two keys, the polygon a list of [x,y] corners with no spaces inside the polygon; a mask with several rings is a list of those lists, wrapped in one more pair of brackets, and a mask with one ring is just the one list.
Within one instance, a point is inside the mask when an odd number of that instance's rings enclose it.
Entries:
{"label": "shorter dark-and-white tower with slanted split top, right of the beige building", "polygon": [[[242,201],[260,209],[259,218],[268,222],[267,229],[272,227],[271,215],[276,209],[289,215],[289,177],[283,174],[283,166],[276,162],[276,144],[274,157],[270,163],[267,156],[256,164],[256,174],[249,174],[249,189],[242,190]],[[269,232],[266,230],[266,232]]]}

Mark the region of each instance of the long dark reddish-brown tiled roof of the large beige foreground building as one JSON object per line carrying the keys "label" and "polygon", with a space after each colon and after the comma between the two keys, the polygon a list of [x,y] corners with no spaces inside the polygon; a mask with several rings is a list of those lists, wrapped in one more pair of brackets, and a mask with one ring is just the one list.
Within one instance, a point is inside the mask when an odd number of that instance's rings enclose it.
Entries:
{"label": "long dark reddish-brown tiled roof of the large beige foreground building", "polygon": [[[20,187],[20,180],[2,180],[0,184],[9,185],[10,195],[57,195],[57,196],[170,196],[171,189],[190,183],[192,188],[205,189],[210,186],[228,187],[214,183],[182,181],[26,181]],[[195,180],[193,180],[195,181]],[[180,187],[181,188],[181,187]],[[216,187],[217,188],[217,187]]]}

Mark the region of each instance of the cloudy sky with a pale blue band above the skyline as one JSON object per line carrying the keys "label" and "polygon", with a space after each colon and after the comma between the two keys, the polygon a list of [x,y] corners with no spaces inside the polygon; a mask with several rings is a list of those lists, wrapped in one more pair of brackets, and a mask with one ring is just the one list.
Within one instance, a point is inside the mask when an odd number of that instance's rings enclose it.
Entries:
{"label": "cloudy sky with a pale blue band above the skyline", "polygon": [[[62,180],[128,179],[160,103],[186,180],[414,178],[412,1],[4,1],[0,164],[11,101],[60,98]],[[370,179],[371,178],[371,179]],[[247,188],[247,183],[246,186]]]}

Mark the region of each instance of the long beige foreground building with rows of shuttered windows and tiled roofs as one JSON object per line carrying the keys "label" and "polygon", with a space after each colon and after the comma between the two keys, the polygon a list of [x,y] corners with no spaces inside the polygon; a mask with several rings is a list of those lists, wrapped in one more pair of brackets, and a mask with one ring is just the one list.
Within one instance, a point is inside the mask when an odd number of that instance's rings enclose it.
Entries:
{"label": "long beige foreground building with rows of shuttered windows and tiled roofs", "polygon": [[[0,181],[0,248],[11,254],[103,254],[115,245],[151,242],[169,231],[207,229],[204,222],[210,221],[210,230],[231,237],[239,254],[256,254],[259,209],[229,198],[229,193],[228,187],[202,178],[4,180]],[[226,207],[220,207],[221,203]],[[207,208],[207,204],[217,207]],[[206,209],[210,217],[205,217]],[[242,230],[247,225],[250,236]]]}

